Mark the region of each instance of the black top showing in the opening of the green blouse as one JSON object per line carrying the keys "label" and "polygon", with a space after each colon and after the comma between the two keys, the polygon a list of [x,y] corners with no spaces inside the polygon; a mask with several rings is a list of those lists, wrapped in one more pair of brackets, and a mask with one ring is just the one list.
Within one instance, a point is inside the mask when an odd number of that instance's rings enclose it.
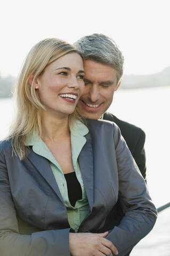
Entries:
{"label": "black top showing in the opening of the green blouse", "polygon": [[68,198],[70,204],[74,207],[76,201],[82,199],[82,188],[77,180],[75,172],[66,173],[64,174],[64,177],[67,182]]}

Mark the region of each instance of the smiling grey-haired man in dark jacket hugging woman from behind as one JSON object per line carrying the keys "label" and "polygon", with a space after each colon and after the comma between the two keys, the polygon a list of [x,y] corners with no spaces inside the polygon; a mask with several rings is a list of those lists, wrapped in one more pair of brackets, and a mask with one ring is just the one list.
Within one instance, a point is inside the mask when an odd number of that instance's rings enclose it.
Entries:
{"label": "smiling grey-haired man in dark jacket hugging woman from behind", "polygon": [[[115,122],[119,126],[127,146],[145,179],[145,133],[139,127],[106,112],[112,103],[114,92],[121,83],[124,67],[122,52],[111,38],[102,34],[80,38],[75,46],[83,53],[85,58],[85,91],[78,102],[78,108],[86,118],[102,118]],[[124,216],[119,201],[110,214],[113,216],[113,222],[106,223],[105,228],[108,230],[117,226]]]}

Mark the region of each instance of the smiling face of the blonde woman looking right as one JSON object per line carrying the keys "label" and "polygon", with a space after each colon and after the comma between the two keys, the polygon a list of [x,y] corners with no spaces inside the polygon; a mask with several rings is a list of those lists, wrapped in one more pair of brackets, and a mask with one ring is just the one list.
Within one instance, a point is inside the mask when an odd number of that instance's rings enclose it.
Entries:
{"label": "smiling face of the blonde woman looking right", "polygon": [[64,55],[47,66],[35,82],[46,114],[66,117],[73,113],[84,91],[83,78],[83,60],[78,53]]}

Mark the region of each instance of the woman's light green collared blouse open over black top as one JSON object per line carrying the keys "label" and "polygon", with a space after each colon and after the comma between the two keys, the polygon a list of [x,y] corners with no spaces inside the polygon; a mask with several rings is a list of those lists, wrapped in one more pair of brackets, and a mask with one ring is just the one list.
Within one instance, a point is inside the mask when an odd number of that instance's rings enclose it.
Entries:
{"label": "woman's light green collared blouse open over black top", "polygon": [[53,171],[56,183],[60,189],[61,196],[63,198],[64,204],[67,208],[68,222],[72,229],[76,232],[80,223],[90,212],[90,207],[87,201],[86,191],[84,188],[82,174],[80,172],[80,167],[78,164],[78,156],[83,146],[86,143],[86,138],[84,135],[88,133],[87,127],[80,121],[76,121],[74,126],[71,127],[71,152],[72,152],[72,163],[76,172],[77,179],[82,187],[82,199],[78,200],[73,207],[68,198],[67,182],[64,178],[64,174],[61,170],[59,163],[56,161],[51,151],[48,149],[44,141],[35,134],[30,135],[30,138],[26,142],[26,146],[33,146],[33,151],[48,159],[51,169]]}

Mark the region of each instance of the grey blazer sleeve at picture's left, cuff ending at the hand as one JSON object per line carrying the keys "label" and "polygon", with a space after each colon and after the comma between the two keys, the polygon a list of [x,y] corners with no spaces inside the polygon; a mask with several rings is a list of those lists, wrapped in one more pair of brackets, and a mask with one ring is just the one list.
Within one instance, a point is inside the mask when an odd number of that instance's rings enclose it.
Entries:
{"label": "grey blazer sleeve at picture's left, cuff ending at the hand", "polygon": [[69,230],[45,230],[19,234],[3,150],[0,153],[0,255],[68,256]]}

